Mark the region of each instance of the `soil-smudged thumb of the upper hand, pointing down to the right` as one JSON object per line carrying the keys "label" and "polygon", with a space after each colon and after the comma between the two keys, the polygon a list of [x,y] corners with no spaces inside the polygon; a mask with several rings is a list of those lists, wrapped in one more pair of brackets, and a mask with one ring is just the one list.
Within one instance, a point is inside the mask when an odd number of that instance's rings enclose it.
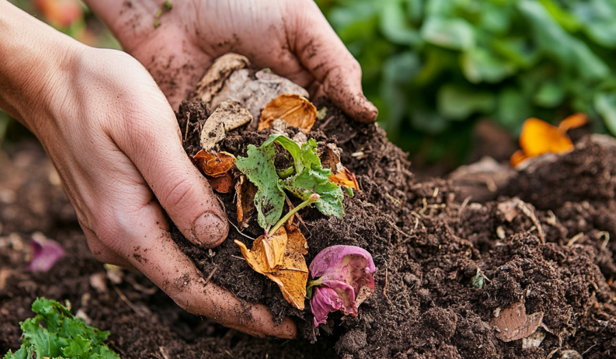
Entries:
{"label": "soil-smudged thumb of the upper hand, pointing down to the right", "polygon": [[300,62],[346,114],[359,122],[376,120],[378,109],[363,96],[359,62],[346,49],[316,3],[303,3],[306,10],[290,10],[296,21],[294,28],[288,29],[290,34],[296,34],[296,54]]}

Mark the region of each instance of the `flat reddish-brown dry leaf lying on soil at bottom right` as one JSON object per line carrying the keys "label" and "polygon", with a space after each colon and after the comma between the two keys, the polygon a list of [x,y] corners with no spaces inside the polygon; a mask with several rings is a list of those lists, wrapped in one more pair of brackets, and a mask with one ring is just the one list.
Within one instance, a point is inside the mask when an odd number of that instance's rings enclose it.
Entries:
{"label": "flat reddish-brown dry leaf lying on soil at bottom right", "polygon": [[492,325],[498,328],[496,330],[497,338],[504,342],[510,342],[530,336],[539,328],[542,320],[543,312],[526,315],[524,302],[519,301],[504,308],[498,317],[492,319]]}

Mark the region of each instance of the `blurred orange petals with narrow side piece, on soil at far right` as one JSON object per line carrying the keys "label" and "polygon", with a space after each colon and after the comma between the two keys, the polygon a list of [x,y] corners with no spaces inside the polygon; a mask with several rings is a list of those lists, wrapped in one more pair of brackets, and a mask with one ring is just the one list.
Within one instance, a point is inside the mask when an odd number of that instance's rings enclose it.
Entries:
{"label": "blurred orange petals with narrow side piece, on soil at far right", "polygon": [[511,156],[511,165],[517,166],[530,157],[537,157],[544,153],[557,155],[571,152],[574,149],[567,130],[583,126],[588,122],[585,114],[574,114],[565,118],[559,127],[552,126],[539,118],[529,118],[522,125],[519,135],[519,146],[522,150]]}

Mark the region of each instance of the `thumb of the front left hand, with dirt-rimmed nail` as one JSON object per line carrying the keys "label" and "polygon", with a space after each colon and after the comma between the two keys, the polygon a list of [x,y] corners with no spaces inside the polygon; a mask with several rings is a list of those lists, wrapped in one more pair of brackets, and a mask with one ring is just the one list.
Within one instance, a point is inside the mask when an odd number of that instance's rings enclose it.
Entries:
{"label": "thumb of the front left hand, with dirt-rimmed nail", "polygon": [[151,101],[159,102],[150,104],[147,114],[153,117],[129,119],[133,126],[116,142],[182,234],[201,247],[216,247],[227,238],[227,217],[209,183],[184,152],[175,115],[164,95]]}

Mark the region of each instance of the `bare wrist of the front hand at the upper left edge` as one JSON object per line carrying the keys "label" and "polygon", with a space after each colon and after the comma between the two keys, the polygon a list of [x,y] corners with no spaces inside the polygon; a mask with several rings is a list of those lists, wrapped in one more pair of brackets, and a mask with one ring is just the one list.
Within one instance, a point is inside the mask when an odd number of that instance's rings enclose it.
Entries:
{"label": "bare wrist of the front hand at the upper left edge", "polygon": [[36,134],[86,47],[0,0],[0,107]]}

